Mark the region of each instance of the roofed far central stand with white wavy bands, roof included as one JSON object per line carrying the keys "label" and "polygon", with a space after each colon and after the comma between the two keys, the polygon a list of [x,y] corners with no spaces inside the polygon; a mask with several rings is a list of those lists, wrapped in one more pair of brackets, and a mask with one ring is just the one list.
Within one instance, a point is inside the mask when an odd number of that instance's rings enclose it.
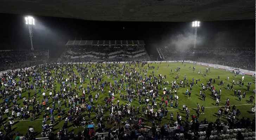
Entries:
{"label": "roofed far central stand with white wavy bands, roof included", "polygon": [[[84,45],[82,45],[81,42]],[[89,45],[87,42],[91,42],[92,44],[89,43]],[[134,44],[134,42],[137,42],[137,44]],[[139,42],[141,42],[141,44],[139,44]],[[66,62],[149,60],[144,41],[81,40],[68,41],[66,46],[66,51],[60,56],[61,60]],[[102,47],[104,47],[104,49],[102,49]]]}

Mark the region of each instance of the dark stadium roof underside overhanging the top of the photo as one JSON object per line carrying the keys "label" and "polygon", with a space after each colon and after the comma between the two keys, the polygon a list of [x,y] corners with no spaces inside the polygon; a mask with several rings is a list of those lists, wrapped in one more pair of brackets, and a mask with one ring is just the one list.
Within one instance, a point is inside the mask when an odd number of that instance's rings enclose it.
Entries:
{"label": "dark stadium roof underside overhanging the top of the photo", "polygon": [[0,13],[98,21],[255,19],[254,0],[2,0]]}

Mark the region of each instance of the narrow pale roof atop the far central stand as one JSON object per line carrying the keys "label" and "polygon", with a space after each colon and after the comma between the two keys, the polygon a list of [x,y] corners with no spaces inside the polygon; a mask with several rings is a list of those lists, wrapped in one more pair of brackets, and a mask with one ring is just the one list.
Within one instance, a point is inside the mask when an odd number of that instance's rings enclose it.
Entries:
{"label": "narrow pale roof atop the far central stand", "polygon": [[66,45],[145,45],[143,40],[69,40]]}

